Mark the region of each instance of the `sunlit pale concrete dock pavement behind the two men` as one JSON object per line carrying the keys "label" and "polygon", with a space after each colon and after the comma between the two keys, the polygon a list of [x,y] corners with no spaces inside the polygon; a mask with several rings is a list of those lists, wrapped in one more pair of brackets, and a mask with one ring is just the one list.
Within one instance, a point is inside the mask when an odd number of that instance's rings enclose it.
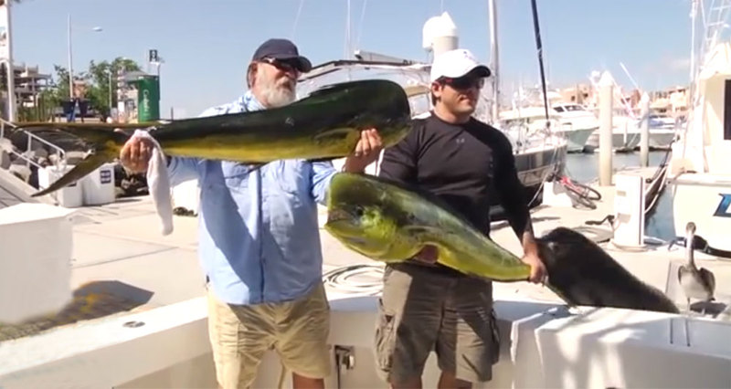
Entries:
{"label": "sunlit pale concrete dock pavement behind the two men", "polygon": [[[651,176],[655,168],[642,170]],[[598,240],[611,237],[605,223],[587,226],[589,220],[601,220],[613,214],[613,186],[598,187],[602,199],[596,209],[571,206],[539,205],[532,211],[536,235],[557,226],[584,230]],[[325,209],[321,208],[321,224]],[[0,341],[48,331],[61,325],[93,320],[109,315],[148,310],[204,294],[204,277],[196,253],[196,217],[174,216],[175,231],[163,237],[154,206],[147,196],[119,199],[110,205],[82,207],[74,216],[71,286],[75,298],[67,310],[55,317],[41,318],[18,326],[0,327]],[[322,230],[323,271],[344,270],[341,277],[326,282],[328,294],[368,289],[379,292],[381,264],[345,248]],[[493,223],[493,239],[520,255],[522,249],[510,226]],[[602,239],[604,237],[604,239]],[[683,262],[683,248],[648,244],[642,249],[627,250],[601,243],[609,254],[639,279],[664,291],[681,310],[685,300],[675,278],[676,267]],[[711,269],[716,279],[716,300],[731,304],[731,261],[697,253],[699,266]],[[364,274],[358,266],[369,268]],[[347,272],[352,277],[348,277]],[[495,300],[534,300],[561,303],[549,289],[527,282],[495,283]],[[726,308],[723,305],[721,309]],[[727,308],[726,308],[727,309]],[[728,311],[726,311],[727,313]],[[725,313],[725,314],[726,314]]]}

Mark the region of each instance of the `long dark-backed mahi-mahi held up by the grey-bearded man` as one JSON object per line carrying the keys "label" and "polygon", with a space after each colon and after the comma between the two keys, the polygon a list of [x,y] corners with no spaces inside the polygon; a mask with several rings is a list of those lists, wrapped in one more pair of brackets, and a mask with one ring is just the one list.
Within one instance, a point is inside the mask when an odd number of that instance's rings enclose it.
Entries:
{"label": "long dark-backed mahi-mahi held up by the grey-bearded man", "polygon": [[376,128],[384,145],[409,131],[406,91],[387,79],[337,83],[302,100],[256,110],[177,121],[144,123],[17,123],[26,131],[66,131],[90,142],[93,150],[48,188],[47,195],[119,156],[131,135],[114,129],[147,129],[169,156],[262,164],[282,159],[327,160],[355,150],[360,131]]}

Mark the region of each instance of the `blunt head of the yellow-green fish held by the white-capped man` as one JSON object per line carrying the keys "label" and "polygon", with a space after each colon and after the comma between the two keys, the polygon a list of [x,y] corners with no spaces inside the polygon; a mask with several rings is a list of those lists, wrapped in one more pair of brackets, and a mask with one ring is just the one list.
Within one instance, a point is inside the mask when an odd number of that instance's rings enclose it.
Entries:
{"label": "blunt head of the yellow-green fish held by the white-capped man", "polygon": [[378,188],[359,175],[337,173],[331,181],[324,229],[366,257],[385,259],[397,241],[397,220]]}

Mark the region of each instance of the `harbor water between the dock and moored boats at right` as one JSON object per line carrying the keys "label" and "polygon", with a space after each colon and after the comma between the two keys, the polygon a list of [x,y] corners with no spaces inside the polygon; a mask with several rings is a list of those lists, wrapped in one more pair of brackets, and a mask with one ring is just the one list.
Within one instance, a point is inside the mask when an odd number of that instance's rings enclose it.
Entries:
{"label": "harbor water between the dock and moored boats at right", "polygon": [[[650,166],[662,163],[667,152],[650,152]],[[615,153],[612,156],[614,171],[622,168],[640,166],[640,152]],[[599,177],[599,152],[571,153],[567,155],[566,173],[580,183],[590,183]],[[665,188],[658,199],[655,209],[645,221],[645,235],[662,240],[671,240],[675,237],[673,228],[673,202],[670,189]]]}

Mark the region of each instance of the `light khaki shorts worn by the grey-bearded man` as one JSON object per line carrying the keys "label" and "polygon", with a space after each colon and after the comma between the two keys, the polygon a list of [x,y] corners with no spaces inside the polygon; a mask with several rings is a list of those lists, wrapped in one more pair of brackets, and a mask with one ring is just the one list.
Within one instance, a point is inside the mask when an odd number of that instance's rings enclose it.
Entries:
{"label": "light khaki shorts worn by the grey-bearded man", "polygon": [[301,300],[251,306],[223,303],[208,289],[208,335],[220,387],[249,387],[270,349],[291,372],[325,378],[330,375],[329,331],[322,283]]}

